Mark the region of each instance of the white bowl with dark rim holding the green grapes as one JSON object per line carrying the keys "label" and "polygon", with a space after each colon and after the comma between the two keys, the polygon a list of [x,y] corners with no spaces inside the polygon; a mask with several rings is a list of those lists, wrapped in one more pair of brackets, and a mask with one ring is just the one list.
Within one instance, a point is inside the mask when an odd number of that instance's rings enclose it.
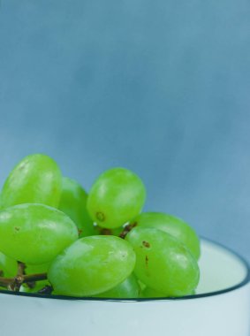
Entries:
{"label": "white bowl with dark rim holding the green grapes", "polygon": [[228,248],[201,241],[197,294],[144,300],[0,294],[1,336],[249,336],[250,271]]}

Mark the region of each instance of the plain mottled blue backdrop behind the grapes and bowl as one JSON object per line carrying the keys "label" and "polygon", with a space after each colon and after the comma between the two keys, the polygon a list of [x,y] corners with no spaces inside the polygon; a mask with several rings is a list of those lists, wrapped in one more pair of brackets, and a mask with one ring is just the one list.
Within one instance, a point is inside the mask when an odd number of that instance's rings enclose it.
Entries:
{"label": "plain mottled blue backdrop behind the grapes and bowl", "polygon": [[2,0],[0,187],[43,152],[89,189],[125,166],[145,210],[250,261],[250,3]]}

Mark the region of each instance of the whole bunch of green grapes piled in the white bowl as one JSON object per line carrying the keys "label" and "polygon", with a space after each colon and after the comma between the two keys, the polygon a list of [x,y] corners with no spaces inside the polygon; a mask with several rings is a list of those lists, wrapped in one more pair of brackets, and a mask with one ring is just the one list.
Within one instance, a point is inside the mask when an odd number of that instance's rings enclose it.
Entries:
{"label": "whole bunch of green grapes piled in the white bowl", "polygon": [[200,241],[190,225],[141,212],[146,189],[125,168],[89,194],[50,157],[25,157],[0,195],[0,286],[77,297],[194,294]]}

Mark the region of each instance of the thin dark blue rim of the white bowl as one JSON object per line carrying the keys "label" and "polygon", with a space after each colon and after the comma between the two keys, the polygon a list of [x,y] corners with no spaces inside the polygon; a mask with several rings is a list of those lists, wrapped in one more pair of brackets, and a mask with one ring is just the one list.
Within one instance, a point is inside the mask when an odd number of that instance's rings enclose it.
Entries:
{"label": "thin dark blue rim of the white bowl", "polygon": [[63,301],[85,301],[85,302],[155,302],[155,301],[186,301],[186,300],[195,300],[201,298],[207,298],[210,296],[216,296],[220,294],[230,293],[235,291],[243,286],[246,286],[250,282],[250,264],[246,261],[246,258],[239,255],[238,252],[235,252],[233,249],[224,246],[221,242],[214,241],[212,239],[208,239],[206,237],[200,236],[202,241],[208,241],[214,245],[217,245],[220,248],[225,249],[226,251],[230,252],[232,255],[239,258],[239,262],[241,262],[246,267],[246,277],[240,281],[237,285],[226,287],[224,289],[202,293],[202,294],[192,294],[180,297],[150,297],[150,298],[99,298],[93,296],[66,296],[66,295],[58,295],[58,294],[39,294],[39,293],[25,293],[25,292],[11,292],[9,290],[0,289],[0,294],[10,294],[10,295],[17,295],[17,296],[26,296],[26,297],[35,297],[35,298],[42,298],[42,299],[52,299],[52,300],[63,300]]}

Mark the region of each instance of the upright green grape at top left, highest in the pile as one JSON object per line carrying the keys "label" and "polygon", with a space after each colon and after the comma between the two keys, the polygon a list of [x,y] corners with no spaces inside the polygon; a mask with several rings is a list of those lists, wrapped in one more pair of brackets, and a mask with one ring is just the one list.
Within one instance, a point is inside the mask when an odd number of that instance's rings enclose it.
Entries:
{"label": "upright green grape at top left, highest in the pile", "polygon": [[23,203],[42,203],[57,208],[62,176],[56,162],[42,154],[22,159],[4,183],[2,208]]}

